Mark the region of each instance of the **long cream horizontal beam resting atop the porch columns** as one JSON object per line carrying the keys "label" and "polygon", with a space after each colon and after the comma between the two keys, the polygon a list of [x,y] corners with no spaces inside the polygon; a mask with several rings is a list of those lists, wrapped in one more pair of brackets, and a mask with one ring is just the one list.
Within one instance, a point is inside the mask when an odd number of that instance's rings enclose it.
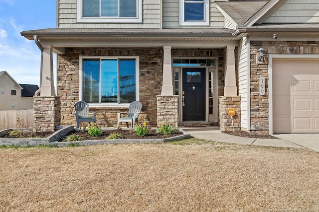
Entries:
{"label": "long cream horizontal beam resting atop the porch columns", "polygon": [[224,48],[226,46],[238,46],[238,41],[141,41],[141,40],[111,40],[111,41],[41,41],[42,45],[51,45],[54,48],[66,48],[66,47],[125,47],[125,48],[140,48],[140,47],[162,47],[162,46],[172,46],[173,48]]}

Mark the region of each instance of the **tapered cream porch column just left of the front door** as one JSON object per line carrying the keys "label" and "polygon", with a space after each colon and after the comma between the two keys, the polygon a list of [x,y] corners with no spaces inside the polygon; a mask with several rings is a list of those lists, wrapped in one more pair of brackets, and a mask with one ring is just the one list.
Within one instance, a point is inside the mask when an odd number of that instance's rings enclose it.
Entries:
{"label": "tapered cream porch column just left of the front door", "polygon": [[173,95],[173,74],[171,69],[171,46],[163,46],[163,82],[161,86],[161,96]]}

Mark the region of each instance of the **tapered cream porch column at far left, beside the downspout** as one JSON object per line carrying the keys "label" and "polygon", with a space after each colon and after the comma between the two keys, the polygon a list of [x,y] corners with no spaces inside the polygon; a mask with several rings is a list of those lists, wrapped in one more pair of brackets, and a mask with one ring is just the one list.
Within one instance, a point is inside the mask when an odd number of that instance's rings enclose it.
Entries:
{"label": "tapered cream porch column at far left, beside the downspout", "polygon": [[52,46],[43,46],[41,96],[54,96]]}

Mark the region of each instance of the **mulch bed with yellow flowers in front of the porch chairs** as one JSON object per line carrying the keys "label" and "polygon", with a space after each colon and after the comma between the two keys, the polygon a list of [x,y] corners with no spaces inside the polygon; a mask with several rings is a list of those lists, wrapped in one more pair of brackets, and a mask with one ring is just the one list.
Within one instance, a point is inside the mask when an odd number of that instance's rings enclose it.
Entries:
{"label": "mulch bed with yellow flowers in front of the porch chairs", "polygon": [[[72,135],[72,134],[75,134],[75,135],[79,135],[83,138],[83,140],[105,140],[109,135],[111,135],[112,133],[118,133],[120,134],[123,139],[166,139],[166,138],[170,138],[170,137],[174,137],[174,136],[178,136],[178,135],[182,135],[182,132],[180,131],[175,131],[171,134],[168,134],[168,135],[163,135],[163,134],[159,134],[159,133],[156,133],[155,130],[151,130],[150,132],[148,132],[146,134],[145,137],[139,137],[136,135],[136,133],[132,130],[107,130],[107,131],[103,131],[102,133],[102,136],[100,137],[90,137],[90,135],[88,134],[87,131],[71,131],[70,133],[68,133],[65,137],[63,138],[66,138],[67,136],[69,135]],[[62,139],[63,139],[62,138]],[[62,140],[61,140],[62,141]]]}

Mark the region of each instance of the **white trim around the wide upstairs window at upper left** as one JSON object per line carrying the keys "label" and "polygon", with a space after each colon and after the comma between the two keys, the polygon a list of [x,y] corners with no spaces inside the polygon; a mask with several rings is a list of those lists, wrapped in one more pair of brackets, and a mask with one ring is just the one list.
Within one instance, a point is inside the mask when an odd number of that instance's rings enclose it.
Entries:
{"label": "white trim around the wide upstairs window at upper left", "polygon": [[82,17],[82,0],[77,0],[77,22],[79,23],[142,23],[142,0],[137,0],[137,17]]}

